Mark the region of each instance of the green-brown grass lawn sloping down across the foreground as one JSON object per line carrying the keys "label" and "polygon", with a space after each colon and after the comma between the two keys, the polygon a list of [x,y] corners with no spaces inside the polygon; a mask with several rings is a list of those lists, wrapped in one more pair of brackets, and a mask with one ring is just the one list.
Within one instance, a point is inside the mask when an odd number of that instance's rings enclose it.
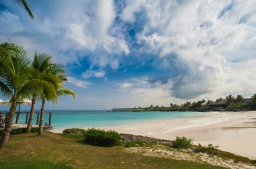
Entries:
{"label": "green-brown grass lawn sloping down across the foreground", "polygon": [[[65,136],[65,137],[64,137]],[[11,135],[0,149],[0,168],[220,168],[209,164],[129,154],[125,148],[82,143],[82,137]]]}

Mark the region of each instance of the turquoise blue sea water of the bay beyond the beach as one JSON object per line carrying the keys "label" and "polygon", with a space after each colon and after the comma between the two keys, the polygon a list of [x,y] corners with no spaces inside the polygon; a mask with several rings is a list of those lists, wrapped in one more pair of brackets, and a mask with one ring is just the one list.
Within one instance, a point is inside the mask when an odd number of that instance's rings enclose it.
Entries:
{"label": "turquoise blue sea water of the bay beyond the beach", "polygon": [[[54,129],[68,127],[104,127],[116,125],[130,125],[141,121],[154,121],[166,119],[181,119],[201,117],[201,112],[164,112],[164,111],[141,111],[141,112],[108,112],[108,111],[52,111],[52,125]],[[33,124],[36,124],[35,113]],[[26,114],[20,114],[20,123],[25,123]],[[14,118],[15,122],[15,118]],[[44,113],[44,123],[49,123],[49,111]]]}

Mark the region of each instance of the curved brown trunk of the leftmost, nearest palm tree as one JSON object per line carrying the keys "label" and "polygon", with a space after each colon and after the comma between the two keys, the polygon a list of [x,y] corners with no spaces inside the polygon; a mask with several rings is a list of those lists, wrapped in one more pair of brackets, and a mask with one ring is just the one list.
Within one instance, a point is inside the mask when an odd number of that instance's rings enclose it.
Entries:
{"label": "curved brown trunk of the leftmost, nearest palm tree", "polygon": [[7,141],[9,139],[9,135],[10,135],[11,127],[13,123],[13,115],[16,109],[16,99],[17,99],[17,92],[15,92],[13,95],[11,108],[6,117],[7,119],[5,121],[5,129],[3,130],[3,134],[0,139],[0,148],[3,148],[7,144]]}

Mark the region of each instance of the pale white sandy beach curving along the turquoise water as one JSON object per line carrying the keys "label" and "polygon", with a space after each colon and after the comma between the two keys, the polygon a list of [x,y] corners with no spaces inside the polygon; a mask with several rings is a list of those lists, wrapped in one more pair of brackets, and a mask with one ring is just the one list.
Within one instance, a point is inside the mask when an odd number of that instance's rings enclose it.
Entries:
{"label": "pale white sandy beach curving along the turquoise water", "polygon": [[[205,146],[214,144],[220,146],[220,150],[256,159],[256,111],[207,112],[203,117],[166,119],[100,128],[160,139],[191,137],[195,144],[200,143]],[[53,132],[59,133],[62,130],[55,129]]]}

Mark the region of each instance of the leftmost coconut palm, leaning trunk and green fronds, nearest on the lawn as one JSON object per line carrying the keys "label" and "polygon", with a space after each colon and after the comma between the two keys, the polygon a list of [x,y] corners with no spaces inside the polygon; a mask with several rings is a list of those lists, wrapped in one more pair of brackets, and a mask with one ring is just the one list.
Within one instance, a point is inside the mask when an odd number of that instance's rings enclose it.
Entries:
{"label": "leftmost coconut palm, leaning trunk and green fronds, nearest on the lawn", "polygon": [[5,97],[11,98],[11,107],[0,139],[0,147],[5,146],[9,138],[17,101],[30,97],[31,90],[42,93],[42,88],[57,95],[51,82],[40,78],[29,78],[30,65],[30,56],[22,46],[7,42],[0,44],[0,92]]}

